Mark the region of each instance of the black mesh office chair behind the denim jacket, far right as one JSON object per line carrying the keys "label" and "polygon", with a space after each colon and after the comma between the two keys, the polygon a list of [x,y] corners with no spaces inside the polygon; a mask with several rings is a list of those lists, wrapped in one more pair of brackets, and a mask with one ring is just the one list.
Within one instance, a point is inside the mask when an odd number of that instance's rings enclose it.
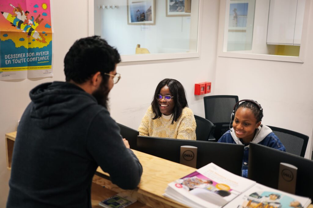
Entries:
{"label": "black mesh office chair behind the denim jacket, far right", "polygon": [[268,126],[286,148],[286,152],[304,157],[309,137],[284,128]]}

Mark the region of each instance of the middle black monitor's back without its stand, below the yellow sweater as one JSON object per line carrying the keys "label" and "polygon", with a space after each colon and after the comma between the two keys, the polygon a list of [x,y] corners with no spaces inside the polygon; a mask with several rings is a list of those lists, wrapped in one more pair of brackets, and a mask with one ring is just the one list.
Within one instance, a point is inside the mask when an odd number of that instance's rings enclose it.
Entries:
{"label": "middle black monitor's back without its stand, below the yellow sweater", "polygon": [[197,168],[213,162],[229,172],[240,175],[244,145],[145,136],[137,138],[139,151],[177,163],[180,160],[180,147],[184,145],[198,148]]}

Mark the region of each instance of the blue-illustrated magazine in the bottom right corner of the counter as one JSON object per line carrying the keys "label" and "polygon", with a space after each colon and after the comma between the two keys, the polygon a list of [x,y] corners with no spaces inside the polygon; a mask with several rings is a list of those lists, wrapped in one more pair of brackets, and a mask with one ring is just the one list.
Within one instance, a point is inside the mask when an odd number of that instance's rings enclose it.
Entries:
{"label": "blue-illustrated magazine in the bottom right corner of the counter", "polygon": [[225,207],[235,208],[302,208],[307,207],[311,200],[306,197],[296,196],[279,191],[261,184],[256,184],[248,189]]}

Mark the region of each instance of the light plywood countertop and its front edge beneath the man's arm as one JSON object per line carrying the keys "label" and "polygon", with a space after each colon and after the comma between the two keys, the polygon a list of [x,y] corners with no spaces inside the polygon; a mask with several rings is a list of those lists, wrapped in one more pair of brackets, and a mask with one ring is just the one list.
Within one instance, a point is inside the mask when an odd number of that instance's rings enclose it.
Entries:
{"label": "light plywood countertop and its front edge beneath the man's arm", "polygon": [[93,182],[118,193],[125,192],[141,203],[151,207],[187,207],[177,201],[162,196],[167,184],[184,177],[197,169],[133,150],[143,167],[139,187],[136,190],[124,190],[112,184],[108,174],[98,167]]}

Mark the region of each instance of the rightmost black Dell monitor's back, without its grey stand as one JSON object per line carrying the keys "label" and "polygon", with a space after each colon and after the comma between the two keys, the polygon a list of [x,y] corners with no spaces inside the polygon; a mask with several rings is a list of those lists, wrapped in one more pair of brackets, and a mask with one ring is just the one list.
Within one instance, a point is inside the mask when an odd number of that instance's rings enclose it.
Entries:
{"label": "rightmost black Dell monitor's back, without its grey stand", "polygon": [[298,168],[295,194],[313,199],[313,161],[303,157],[250,143],[248,178],[277,189],[281,162]]}

